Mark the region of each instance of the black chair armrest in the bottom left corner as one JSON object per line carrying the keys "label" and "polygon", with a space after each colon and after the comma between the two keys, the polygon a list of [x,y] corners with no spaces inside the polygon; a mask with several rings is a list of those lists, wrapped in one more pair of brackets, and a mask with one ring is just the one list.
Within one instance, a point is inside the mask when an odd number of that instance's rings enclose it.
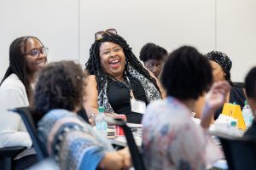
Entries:
{"label": "black chair armrest in the bottom left corner", "polygon": [[12,165],[13,165],[15,156],[17,156],[21,151],[25,149],[26,149],[25,146],[0,148],[0,157],[3,158],[4,168],[6,170],[14,169]]}

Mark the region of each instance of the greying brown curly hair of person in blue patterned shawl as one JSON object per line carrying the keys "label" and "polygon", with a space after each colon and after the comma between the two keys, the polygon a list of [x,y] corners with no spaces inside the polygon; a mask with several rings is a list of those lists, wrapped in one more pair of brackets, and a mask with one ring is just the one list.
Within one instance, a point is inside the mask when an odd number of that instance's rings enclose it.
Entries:
{"label": "greying brown curly hair of person in blue patterned shawl", "polygon": [[73,111],[83,105],[85,74],[73,61],[50,63],[39,74],[34,109],[44,116],[52,109]]}

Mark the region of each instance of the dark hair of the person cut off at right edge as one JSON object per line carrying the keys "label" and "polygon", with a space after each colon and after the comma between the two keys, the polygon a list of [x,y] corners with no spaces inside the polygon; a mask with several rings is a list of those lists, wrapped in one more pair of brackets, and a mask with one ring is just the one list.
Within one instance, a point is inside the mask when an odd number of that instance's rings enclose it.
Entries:
{"label": "dark hair of the person cut off at right edge", "polygon": [[256,100],[256,67],[254,66],[245,78],[245,88],[248,98]]}

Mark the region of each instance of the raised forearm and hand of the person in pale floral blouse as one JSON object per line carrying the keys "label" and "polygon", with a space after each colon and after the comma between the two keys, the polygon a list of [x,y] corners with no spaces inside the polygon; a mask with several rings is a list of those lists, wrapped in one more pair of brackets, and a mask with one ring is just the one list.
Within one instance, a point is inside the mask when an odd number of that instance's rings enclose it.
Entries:
{"label": "raised forearm and hand of the person in pale floral blouse", "polygon": [[225,97],[230,91],[228,82],[215,82],[206,94],[205,105],[201,114],[201,126],[209,127],[214,112],[224,104]]}

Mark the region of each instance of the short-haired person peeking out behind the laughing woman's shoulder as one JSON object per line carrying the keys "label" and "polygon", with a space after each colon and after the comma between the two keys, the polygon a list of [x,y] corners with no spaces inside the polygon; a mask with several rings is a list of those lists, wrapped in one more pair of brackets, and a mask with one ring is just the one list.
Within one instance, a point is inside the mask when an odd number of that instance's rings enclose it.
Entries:
{"label": "short-haired person peeking out behind the laughing woman's shoulder", "polygon": [[167,55],[168,53],[165,48],[148,42],[141,49],[139,58],[155,77],[159,77]]}

